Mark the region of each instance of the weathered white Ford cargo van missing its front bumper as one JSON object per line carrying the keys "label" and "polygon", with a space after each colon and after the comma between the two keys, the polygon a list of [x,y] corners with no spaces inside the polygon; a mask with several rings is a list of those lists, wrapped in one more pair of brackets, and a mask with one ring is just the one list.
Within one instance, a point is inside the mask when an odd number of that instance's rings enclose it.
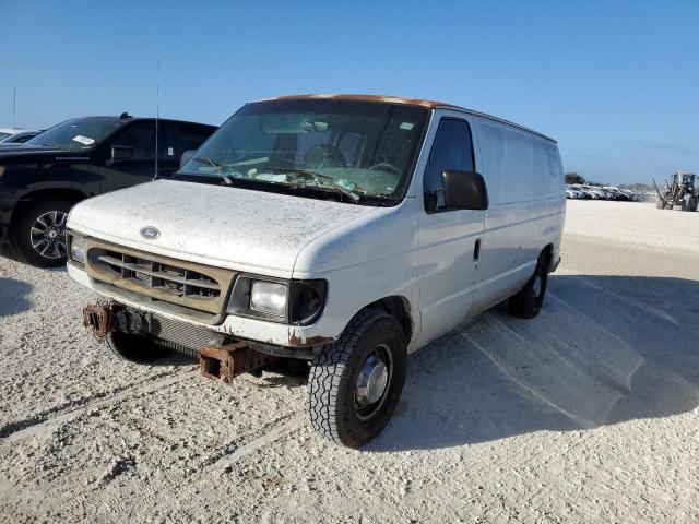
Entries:
{"label": "weathered white Ford cargo van missing its front bumper", "polygon": [[175,176],[75,205],[68,272],[105,297],[85,325],[129,360],[180,352],[224,383],[305,360],[312,427],[356,448],[414,350],[506,299],[536,317],[565,205],[556,142],[530,129],[422,99],[280,97]]}

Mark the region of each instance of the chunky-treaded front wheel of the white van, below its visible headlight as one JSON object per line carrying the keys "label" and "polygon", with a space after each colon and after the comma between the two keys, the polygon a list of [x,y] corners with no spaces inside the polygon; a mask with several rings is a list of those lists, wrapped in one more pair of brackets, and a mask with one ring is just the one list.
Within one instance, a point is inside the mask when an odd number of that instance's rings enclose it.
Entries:
{"label": "chunky-treaded front wheel of the white van, below its visible headlight", "polygon": [[313,429],[347,448],[359,448],[379,434],[403,391],[405,344],[394,317],[377,309],[358,313],[340,340],[324,346],[311,362],[308,408]]}

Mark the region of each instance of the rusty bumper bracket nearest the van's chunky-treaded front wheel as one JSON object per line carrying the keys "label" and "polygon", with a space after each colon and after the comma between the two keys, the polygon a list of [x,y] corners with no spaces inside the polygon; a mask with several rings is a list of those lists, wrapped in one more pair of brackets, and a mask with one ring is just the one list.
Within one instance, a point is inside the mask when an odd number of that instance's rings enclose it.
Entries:
{"label": "rusty bumper bracket nearest the van's chunky-treaded front wheel", "polygon": [[246,342],[225,346],[204,347],[199,354],[199,369],[208,379],[229,384],[242,373],[250,373],[276,360],[276,357],[256,352]]}

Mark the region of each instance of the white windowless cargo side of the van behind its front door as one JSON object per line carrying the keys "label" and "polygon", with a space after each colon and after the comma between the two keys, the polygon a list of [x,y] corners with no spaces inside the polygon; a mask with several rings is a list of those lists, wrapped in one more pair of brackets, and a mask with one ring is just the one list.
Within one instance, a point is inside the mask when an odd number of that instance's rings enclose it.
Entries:
{"label": "white windowless cargo side of the van behind its front door", "polygon": [[476,294],[482,311],[524,286],[547,243],[558,247],[565,199],[554,142],[486,118],[478,118],[476,134],[489,196]]}

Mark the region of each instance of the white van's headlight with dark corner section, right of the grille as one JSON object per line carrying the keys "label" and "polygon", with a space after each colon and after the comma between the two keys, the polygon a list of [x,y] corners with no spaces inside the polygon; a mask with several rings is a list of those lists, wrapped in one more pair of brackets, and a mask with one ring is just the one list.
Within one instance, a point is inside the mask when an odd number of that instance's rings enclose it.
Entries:
{"label": "white van's headlight with dark corner section, right of the grille", "polygon": [[315,322],[325,306],[327,281],[265,279],[252,275],[236,278],[226,312],[308,325]]}

